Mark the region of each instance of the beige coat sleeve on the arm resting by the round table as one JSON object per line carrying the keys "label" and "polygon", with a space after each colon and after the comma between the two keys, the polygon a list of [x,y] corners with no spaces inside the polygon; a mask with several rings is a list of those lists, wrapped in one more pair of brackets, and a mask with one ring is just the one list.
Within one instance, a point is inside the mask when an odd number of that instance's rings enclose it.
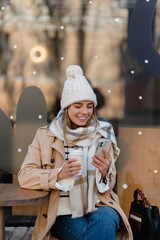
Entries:
{"label": "beige coat sleeve on the arm resting by the round table", "polygon": [[28,189],[56,189],[55,183],[57,181],[58,168],[42,168],[39,139],[39,131],[37,131],[18,173],[19,184],[22,188]]}

